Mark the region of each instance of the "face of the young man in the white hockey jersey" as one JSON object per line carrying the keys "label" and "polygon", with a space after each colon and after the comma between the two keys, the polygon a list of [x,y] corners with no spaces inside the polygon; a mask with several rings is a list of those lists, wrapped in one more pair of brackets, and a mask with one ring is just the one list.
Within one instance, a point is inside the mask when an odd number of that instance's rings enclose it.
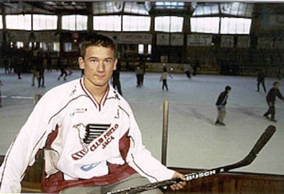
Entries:
{"label": "face of the young man in the white hockey jersey", "polygon": [[84,59],[79,57],[78,61],[84,69],[85,83],[91,87],[106,87],[117,66],[115,51],[103,46],[88,46]]}

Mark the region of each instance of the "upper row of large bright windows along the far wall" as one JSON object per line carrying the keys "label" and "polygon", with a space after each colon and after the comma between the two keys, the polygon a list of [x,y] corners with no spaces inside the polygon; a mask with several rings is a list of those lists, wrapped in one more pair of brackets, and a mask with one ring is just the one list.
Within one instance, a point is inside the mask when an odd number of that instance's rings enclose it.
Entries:
{"label": "upper row of large bright windows along the far wall", "polygon": [[[7,29],[50,30],[57,29],[58,16],[7,15]],[[62,29],[82,31],[87,29],[87,16],[62,16]],[[190,18],[191,32],[249,34],[252,19],[228,17]],[[121,25],[122,24],[122,25]],[[183,18],[178,16],[156,16],[154,31],[182,32]],[[150,16],[94,16],[93,28],[101,31],[150,31]],[[0,18],[0,27],[3,23]]]}

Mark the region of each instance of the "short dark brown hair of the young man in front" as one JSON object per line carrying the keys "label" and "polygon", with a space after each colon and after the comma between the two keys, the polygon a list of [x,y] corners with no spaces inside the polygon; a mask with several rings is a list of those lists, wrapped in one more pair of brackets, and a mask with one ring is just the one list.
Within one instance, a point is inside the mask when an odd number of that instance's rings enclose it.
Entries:
{"label": "short dark brown hair of the young man in front", "polygon": [[113,51],[115,51],[115,43],[113,42],[113,40],[111,40],[107,36],[99,35],[96,33],[88,35],[82,41],[80,52],[81,57],[84,58],[84,56],[86,55],[86,48],[88,48],[88,46],[103,46],[106,48],[111,48]]}

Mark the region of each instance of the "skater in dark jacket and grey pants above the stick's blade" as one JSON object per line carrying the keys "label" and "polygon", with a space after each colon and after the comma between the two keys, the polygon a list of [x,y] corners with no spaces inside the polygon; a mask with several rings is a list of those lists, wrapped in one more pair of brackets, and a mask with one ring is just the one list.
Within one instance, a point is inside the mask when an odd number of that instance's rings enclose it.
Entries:
{"label": "skater in dark jacket and grey pants above the stick's blade", "polygon": [[216,106],[217,106],[217,120],[215,122],[215,125],[222,125],[225,126],[224,124],[224,118],[226,115],[226,103],[228,99],[228,94],[230,93],[231,87],[226,86],[225,91],[221,92],[221,94],[218,96]]}

